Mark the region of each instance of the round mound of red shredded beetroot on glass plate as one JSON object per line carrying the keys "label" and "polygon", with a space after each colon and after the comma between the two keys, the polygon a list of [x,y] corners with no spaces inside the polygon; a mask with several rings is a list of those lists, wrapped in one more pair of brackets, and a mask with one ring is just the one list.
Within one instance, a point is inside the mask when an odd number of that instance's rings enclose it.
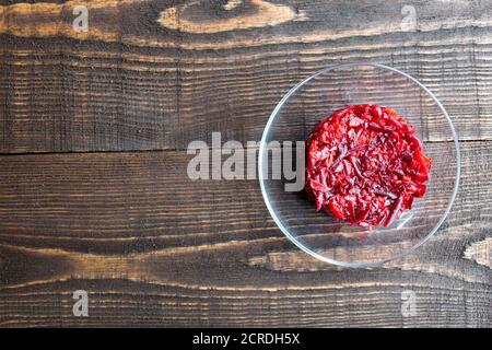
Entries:
{"label": "round mound of red shredded beetroot on glass plate", "polygon": [[431,160],[394,110],[354,105],[321,120],[307,140],[306,191],[335,218],[388,226],[422,197]]}

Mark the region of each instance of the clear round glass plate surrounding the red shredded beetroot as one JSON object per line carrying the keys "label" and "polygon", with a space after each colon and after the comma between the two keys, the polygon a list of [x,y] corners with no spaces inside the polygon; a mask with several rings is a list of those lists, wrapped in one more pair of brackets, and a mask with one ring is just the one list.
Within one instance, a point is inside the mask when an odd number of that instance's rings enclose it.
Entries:
{"label": "clear round glass plate surrounding the red shredded beetroot", "polygon": [[[305,141],[320,119],[348,105],[365,103],[403,116],[415,127],[433,162],[425,196],[389,228],[352,226],[316,212],[302,189],[286,190],[292,177],[284,171],[280,179],[272,174],[278,162],[278,156],[272,156],[276,148],[285,149],[285,141]],[[295,168],[295,156],[292,159]],[[335,265],[375,267],[412,252],[444,222],[458,190],[459,144],[446,110],[415,79],[382,65],[347,63],[316,72],[280,101],[261,138],[258,170],[267,208],[296,246]]]}

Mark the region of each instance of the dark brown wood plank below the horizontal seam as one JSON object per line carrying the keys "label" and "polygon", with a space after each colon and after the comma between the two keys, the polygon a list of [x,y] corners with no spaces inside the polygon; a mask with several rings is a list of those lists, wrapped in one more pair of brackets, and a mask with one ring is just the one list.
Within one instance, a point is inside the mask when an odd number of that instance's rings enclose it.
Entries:
{"label": "dark brown wood plank below the horizontal seam", "polygon": [[462,155],[436,236],[373,270],[300,253],[256,180],[191,182],[184,151],[3,155],[0,325],[490,327],[492,142]]}

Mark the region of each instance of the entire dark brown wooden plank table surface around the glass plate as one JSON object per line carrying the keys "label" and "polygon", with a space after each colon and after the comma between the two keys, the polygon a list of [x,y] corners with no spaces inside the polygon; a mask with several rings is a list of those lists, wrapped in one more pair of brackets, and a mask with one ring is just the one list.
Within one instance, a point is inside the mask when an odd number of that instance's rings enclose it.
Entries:
{"label": "entire dark brown wooden plank table surface around the glass plate", "polygon": [[[30,2],[0,1],[1,326],[492,326],[492,1]],[[435,92],[462,152],[437,234],[372,270],[301,253],[257,180],[186,176],[190,141],[259,140],[361,60]]]}

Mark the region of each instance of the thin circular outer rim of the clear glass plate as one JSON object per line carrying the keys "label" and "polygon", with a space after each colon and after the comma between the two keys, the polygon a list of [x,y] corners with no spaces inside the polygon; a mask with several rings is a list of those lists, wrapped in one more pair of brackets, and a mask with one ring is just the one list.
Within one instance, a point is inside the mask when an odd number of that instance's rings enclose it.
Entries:
{"label": "thin circular outer rim of the clear glass plate", "polygon": [[[348,262],[348,261],[340,261],[340,260],[336,260],[336,259],[330,259],[328,257],[325,257],[314,250],[312,250],[311,248],[308,248],[307,246],[305,246],[303,243],[301,243],[296,237],[294,237],[289,230],[282,224],[282,222],[280,221],[280,219],[278,218],[277,213],[274,212],[273,208],[271,207],[270,203],[270,199],[268,198],[268,194],[267,190],[265,188],[265,178],[263,178],[263,165],[262,165],[262,159],[263,159],[263,152],[266,151],[266,142],[267,142],[267,137],[268,133],[270,131],[270,127],[273,122],[273,120],[276,119],[280,108],[283,106],[283,104],[301,88],[303,86],[305,83],[307,83],[308,81],[313,80],[314,78],[329,72],[331,70],[338,69],[338,68],[343,68],[343,67],[355,67],[355,66],[370,66],[370,67],[376,67],[376,68],[380,68],[384,70],[389,70],[393,72],[396,72],[398,74],[401,74],[406,78],[408,78],[409,80],[413,81],[417,85],[419,85],[423,91],[425,91],[431,97],[432,100],[434,100],[434,102],[436,103],[436,105],[441,108],[442,113],[444,114],[449,128],[452,130],[453,133],[453,138],[454,138],[454,143],[455,143],[455,149],[456,149],[456,177],[455,177],[455,186],[453,189],[453,194],[449,198],[449,201],[447,203],[446,210],[445,212],[441,215],[440,220],[437,221],[437,223],[434,225],[434,228],[432,228],[432,230],[423,237],[421,238],[418,243],[415,243],[411,248],[406,249],[395,256],[391,256],[389,258],[386,258],[384,260],[380,261],[374,261],[374,262]],[[258,179],[259,179],[259,184],[260,184],[260,189],[261,189],[261,195],[263,197],[263,201],[267,206],[267,209],[270,213],[270,215],[273,218],[273,221],[277,223],[277,225],[279,226],[279,229],[282,231],[282,233],[292,242],[294,243],[301,250],[303,250],[304,253],[319,259],[323,260],[325,262],[329,262],[336,266],[341,266],[341,267],[348,267],[348,268],[374,268],[374,267],[380,267],[384,264],[395,260],[395,259],[399,259],[402,258],[407,255],[409,255],[410,253],[414,252],[417,248],[419,248],[421,245],[423,245],[425,242],[427,242],[435,233],[436,231],[440,229],[440,226],[443,224],[443,222],[446,220],[447,215],[449,214],[452,208],[453,208],[453,203],[456,199],[456,196],[458,194],[458,187],[459,187],[459,179],[460,179],[460,175],[461,175],[461,155],[460,155],[460,151],[459,151],[459,141],[458,141],[458,133],[456,132],[456,129],[453,125],[453,121],[449,117],[449,115],[447,114],[446,109],[444,108],[444,106],[441,104],[441,102],[437,100],[437,97],[434,95],[434,93],[432,93],[426,86],[424,86],[421,82],[419,82],[415,78],[409,75],[406,72],[400,71],[399,69],[393,68],[393,67],[388,67],[385,65],[380,65],[380,63],[373,63],[373,62],[349,62],[349,63],[338,63],[338,65],[331,65],[331,66],[327,66],[318,71],[316,71],[314,74],[307,77],[306,79],[304,79],[303,81],[298,82],[296,85],[294,85],[283,97],[282,100],[280,100],[280,102],[277,104],[277,106],[274,107],[273,112],[271,113],[267,125],[265,126],[262,136],[261,136],[261,140],[260,140],[260,147],[259,147],[259,152],[258,152]]]}

